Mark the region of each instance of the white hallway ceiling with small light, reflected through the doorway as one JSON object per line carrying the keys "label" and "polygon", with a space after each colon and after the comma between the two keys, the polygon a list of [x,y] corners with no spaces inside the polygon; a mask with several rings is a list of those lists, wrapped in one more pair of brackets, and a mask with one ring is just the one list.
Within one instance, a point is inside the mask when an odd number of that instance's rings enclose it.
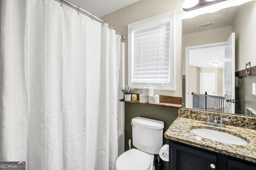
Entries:
{"label": "white hallway ceiling with small light, reflected through the doorway", "polygon": [[[216,46],[191,49],[189,51],[189,65],[201,68],[224,68],[224,48],[225,46]],[[214,66],[213,62],[217,62],[219,65]]]}

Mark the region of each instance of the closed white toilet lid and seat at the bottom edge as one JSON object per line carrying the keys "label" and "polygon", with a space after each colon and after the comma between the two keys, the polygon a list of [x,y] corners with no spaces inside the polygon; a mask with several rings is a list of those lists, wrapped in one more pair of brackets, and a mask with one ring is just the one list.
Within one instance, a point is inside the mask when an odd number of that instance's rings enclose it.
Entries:
{"label": "closed white toilet lid and seat at the bottom edge", "polygon": [[148,170],[151,167],[150,155],[138,149],[130,149],[116,160],[116,170]]}

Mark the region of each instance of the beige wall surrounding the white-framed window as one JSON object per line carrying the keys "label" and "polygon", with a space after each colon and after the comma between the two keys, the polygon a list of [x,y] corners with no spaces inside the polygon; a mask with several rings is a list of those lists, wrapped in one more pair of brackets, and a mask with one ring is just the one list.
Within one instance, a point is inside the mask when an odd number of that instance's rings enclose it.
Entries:
{"label": "beige wall surrounding the white-framed window", "polygon": [[[155,90],[155,94],[182,97],[182,10],[183,0],[140,0],[130,6],[112,12],[101,19],[115,27],[120,33],[128,35],[129,23],[140,21],[166,12],[175,11],[175,72],[176,90]],[[125,83],[128,83],[128,39],[125,41]],[[137,93],[142,93],[138,90]]]}

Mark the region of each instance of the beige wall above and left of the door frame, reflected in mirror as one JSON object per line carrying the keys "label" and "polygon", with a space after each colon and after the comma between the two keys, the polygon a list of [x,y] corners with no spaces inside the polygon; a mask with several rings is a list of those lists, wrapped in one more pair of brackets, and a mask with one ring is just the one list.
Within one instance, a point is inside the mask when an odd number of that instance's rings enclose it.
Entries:
{"label": "beige wall above and left of the door frame, reflected in mirror", "polygon": [[186,47],[227,41],[232,31],[233,26],[230,25],[207,31],[184,34],[182,36],[182,75],[186,75]]}

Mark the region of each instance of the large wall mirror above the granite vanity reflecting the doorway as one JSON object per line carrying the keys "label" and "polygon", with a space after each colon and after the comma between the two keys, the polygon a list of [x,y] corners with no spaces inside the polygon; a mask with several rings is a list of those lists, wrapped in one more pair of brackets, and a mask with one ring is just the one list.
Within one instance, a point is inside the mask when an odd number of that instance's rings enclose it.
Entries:
{"label": "large wall mirror above the granite vanity reflecting the doorway", "polygon": [[256,0],[182,20],[183,107],[256,116],[255,30]]}

